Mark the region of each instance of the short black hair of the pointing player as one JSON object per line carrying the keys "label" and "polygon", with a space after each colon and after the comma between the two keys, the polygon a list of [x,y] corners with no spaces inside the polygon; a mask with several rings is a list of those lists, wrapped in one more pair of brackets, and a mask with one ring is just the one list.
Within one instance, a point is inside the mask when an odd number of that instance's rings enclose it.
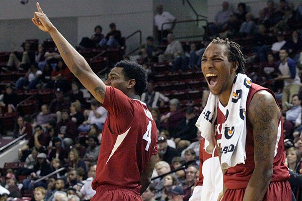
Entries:
{"label": "short black hair of the pointing player", "polygon": [[137,95],[141,95],[147,87],[147,73],[145,69],[136,62],[122,60],[114,67],[123,68],[125,79],[135,79],[134,90]]}

